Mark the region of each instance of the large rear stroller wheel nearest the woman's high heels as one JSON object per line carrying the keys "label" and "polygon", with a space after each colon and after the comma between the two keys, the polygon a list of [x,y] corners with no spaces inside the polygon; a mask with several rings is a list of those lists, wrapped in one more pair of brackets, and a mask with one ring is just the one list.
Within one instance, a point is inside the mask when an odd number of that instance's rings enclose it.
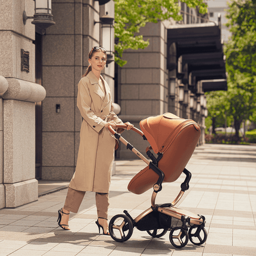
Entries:
{"label": "large rear stroller wheel nearest the woman's high heels", "polygon": [[110,220],[108,226],[110,236],[117,242],[127,241],[133,232],[132,220],[124,214],[117,214]]}

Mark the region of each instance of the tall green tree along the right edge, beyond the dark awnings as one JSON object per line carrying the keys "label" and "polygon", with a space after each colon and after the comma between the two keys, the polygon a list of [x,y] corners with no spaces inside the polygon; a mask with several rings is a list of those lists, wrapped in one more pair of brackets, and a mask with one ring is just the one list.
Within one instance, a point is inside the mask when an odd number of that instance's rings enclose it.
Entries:
{"label": "tall green tree along the right edge, beyond the dark awnings", "polygon": [[227,18],[232,32],[224,49],[229,114],[239,138],[242,121],[256,120],[256,0],[232,0]]}

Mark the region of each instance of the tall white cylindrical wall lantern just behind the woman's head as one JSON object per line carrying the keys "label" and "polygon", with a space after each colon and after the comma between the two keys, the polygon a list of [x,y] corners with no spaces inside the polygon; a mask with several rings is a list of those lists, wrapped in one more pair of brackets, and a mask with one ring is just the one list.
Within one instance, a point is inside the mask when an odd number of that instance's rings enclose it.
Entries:
{"label": "tall white cylindrical wall lantern just behind the woman's head", "polygon": [[94,21],[94,24],[101,23],[102,29],[102,47],[107,50],[107,65],[114,61],[114,18],[108,13],[99,18],[100,21]]}

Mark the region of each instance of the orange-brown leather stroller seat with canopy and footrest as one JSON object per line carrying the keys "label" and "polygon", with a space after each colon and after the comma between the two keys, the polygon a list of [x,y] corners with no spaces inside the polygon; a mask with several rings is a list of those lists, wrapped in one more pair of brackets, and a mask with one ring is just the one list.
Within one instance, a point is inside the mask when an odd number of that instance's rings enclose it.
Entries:
{"label": "orange-brown leather stroller seat with canopy and footrest", "polygon": [[[163,154],[158,168],[164,173],[164,182],[174,182],[196,148],[201,135],[199,125],[191,119],[180,118],[171,113],[148,117],[139,125],[155,154]],[[144,193],[157,180],[158,174],[147,166],[130,180],[128,190],[135,194]]]}

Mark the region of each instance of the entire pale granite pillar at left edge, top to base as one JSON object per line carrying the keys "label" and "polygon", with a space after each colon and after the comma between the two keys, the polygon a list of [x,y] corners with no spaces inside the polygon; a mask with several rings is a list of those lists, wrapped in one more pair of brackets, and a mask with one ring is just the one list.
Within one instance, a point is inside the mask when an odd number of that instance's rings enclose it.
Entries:
{"label": "entire pale granite pillar at left edge, top to base", "polygon": [[[1,1],[0,11],[0,74],[5,77],[1,81],[8,85],[5,92],[1,90],[0,98],[0,208],[13,208],[38,199],[35,102],[42,101],[46,92],[34,83],[35,25],[31,20],[25,25],[22,19],[23,11],[27,16],[34,14],[35,1]],[[21,66],[21,50],[29,52],[27,70]]]}

